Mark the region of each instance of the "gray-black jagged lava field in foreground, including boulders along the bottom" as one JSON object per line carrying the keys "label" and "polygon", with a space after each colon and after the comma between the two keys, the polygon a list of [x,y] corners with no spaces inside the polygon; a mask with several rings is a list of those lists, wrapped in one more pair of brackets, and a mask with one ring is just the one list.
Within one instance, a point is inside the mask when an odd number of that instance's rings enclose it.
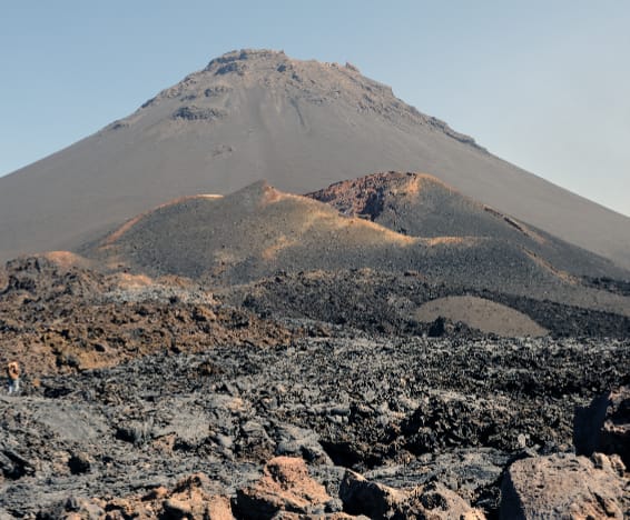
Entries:
{"label": "gray-black jagged lava field in foreground, including boulders along the bottom", "polygon": [[[629,382],[628,341],[327,331],[27,378],[0,400],[2,513],[630,513],[629,396],[584,408]],[[608,437],[606,413],[617,413]]]}

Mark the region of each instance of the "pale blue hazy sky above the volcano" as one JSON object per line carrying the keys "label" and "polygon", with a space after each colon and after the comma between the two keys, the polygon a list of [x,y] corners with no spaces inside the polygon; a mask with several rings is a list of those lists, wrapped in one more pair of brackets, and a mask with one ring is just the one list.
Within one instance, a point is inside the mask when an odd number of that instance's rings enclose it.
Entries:
{"label": "pale blue hazy sky above the volcano", "polygon": [[0,0],[0,174],[211,58],[270,48],[350,61],[492,153],[630,216],[629,28],[624,0]]}

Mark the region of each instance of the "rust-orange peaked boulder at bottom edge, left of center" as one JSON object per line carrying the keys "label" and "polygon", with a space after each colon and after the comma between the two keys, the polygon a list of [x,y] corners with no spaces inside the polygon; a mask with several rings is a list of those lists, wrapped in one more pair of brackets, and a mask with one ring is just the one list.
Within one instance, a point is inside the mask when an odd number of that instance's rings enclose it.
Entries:
{"label": "rust-orange peaked boulder at bottom edge, left of center", "polygon": [[276,457],[267,462],[258,481],[237,490],[236,509],[243,518],[265,519],[279,511],[323,513],[329,500],[324,486],[309,477],[303,459]]}

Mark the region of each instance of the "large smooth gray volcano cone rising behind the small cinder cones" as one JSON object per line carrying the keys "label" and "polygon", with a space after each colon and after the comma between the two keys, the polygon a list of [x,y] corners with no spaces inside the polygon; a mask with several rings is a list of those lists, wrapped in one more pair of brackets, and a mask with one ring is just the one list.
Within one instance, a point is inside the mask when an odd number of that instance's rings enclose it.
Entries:
{"label": "large smooth gray volcano cone rising behind the small cinder cones", "polygon": [[465,196],[630,268],[630,219],[530,174],[346,64],[213,60],[135,113],[0,179],[0,259],[73,249],[179,196],[267,179],[306,192],[378,170]]}

